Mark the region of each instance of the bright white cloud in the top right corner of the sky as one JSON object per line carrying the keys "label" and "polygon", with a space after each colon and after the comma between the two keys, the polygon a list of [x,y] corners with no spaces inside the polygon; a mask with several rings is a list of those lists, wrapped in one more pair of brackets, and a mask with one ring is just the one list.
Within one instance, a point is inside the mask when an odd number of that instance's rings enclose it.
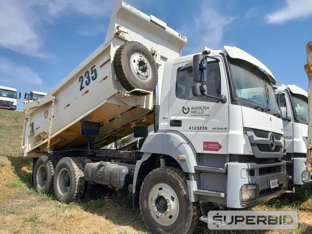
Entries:
{"label": "bright white cloud in the top right corner of the sky", "polygon": [[312,0],[286,0],[285,3],[282,8],[265,16],[268,23],[281,24],[312,15]]}

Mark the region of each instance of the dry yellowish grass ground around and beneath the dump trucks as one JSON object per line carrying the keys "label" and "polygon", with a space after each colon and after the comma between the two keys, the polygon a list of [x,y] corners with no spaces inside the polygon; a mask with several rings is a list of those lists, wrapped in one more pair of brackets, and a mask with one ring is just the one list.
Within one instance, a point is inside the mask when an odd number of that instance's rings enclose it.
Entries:
{"label": "dry yellowish grass ground around and beneath the dump trucks", "polygon": [[[29,186],[32,160],[22,157],[23,114],[0,110],[0,233],[13,234],[147,234],[131,196],[110,192],[95,199],[65,204]],[[283,199],[254,210],[296,210],[300,222],[312,225],[312,188],[298,189]],[[3,232],[2,232],[3,231]],[[195,234],[310,234],[296,231],[209,231],[200,225]]]}

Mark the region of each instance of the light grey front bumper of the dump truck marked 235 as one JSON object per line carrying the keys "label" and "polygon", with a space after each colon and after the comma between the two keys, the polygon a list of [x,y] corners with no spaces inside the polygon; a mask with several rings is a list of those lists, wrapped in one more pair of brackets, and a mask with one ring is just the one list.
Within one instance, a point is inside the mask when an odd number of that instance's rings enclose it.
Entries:
{"label": "light grey front bumper of the dump truck marked 235", "polygon": [[[270,181],[278,181],[278,187],[271,188]],[[282,195],[287,188],[286,162],[274,163],[227,163],[227,198],[228,208],[244,209],[269,201]],[[240,197],[243,185],[254,184],[258,186],[256,200],[245,204]]]}

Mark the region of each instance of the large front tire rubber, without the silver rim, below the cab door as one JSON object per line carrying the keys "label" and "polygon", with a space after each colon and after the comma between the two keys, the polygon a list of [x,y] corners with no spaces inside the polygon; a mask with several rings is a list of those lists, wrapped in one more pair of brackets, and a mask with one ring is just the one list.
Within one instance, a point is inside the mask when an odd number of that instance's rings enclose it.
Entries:
{"label": "large front tire rubber, without the silver rim, below the cab door", "polygon": [[[174,167],[156,168],[145,177],[140,190],[140,210],[144,223],[151,233],[191,234],[196,229],[200,218],[200,209],[197,203],[193,203],[189,199],[187,179],[186,173]],[[150,190],[157,183],[170,185],[179,199],[180,213],[177,220],[170,226],[158,224],[150,213],[151,208],[148,207]]]}

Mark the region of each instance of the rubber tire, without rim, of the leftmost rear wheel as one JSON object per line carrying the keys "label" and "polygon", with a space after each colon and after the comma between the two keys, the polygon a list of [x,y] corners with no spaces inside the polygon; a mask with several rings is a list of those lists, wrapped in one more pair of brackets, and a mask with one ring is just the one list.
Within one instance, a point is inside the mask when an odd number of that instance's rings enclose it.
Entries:
{"label": "rubber tire, without rim, of the leftmost rear wheel", "polygon": [[[49,194],[52,192],[53,189],[53,177],[54,177],[54,172],[55,172],[55,167],[58,162],[59,158],[58,157],[53,157],[53,156],[47,156],[47,155],[41,155],[35,166],[34,166],[34,171],[33,171],[33,187],[35,190],[37,190],[40,193],[46,193]],[[37,173],[38,169],[41,165],[44,165],[46,168],[46,182],[43,187],[40,188],[37,182]]]}

